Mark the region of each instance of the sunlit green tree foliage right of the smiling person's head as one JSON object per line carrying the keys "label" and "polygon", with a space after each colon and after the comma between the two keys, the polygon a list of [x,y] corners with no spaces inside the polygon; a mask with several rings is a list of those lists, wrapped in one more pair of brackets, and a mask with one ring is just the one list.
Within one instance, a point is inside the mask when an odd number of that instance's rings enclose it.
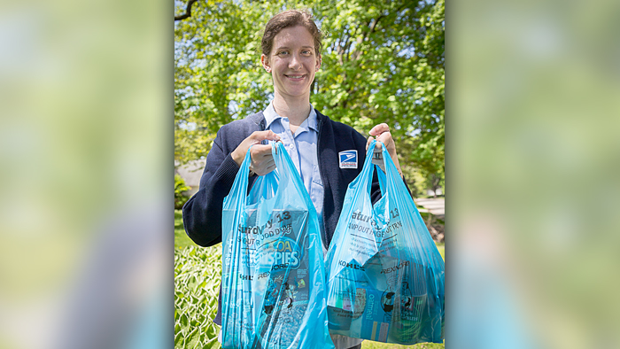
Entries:
{"label": "sunlit green tree foliage right of the smiling person's head", "polygon": [[362,134],[391,125],[407,179],[443,186],[444,1],[326,2],[316,12],[329,35],[314,105]]}

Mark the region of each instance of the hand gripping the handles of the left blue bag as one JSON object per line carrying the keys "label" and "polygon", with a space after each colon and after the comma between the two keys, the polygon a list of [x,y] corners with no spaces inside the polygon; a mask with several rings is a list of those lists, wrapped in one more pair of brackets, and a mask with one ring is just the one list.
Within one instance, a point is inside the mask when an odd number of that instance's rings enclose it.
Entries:
{"label": "hand gripping the handles of the left blue bag", "polygon": [[241,164],[245,159],[245,154],[253,145],[252,150],[250,151],[250,157],[252,158],[250,171],[258,175],[268,174],[274,170],[275,161],[274,157],[271,155],[271,145],[260,144],[260,142],[264,140],[279,141],[280,136],[269,130],[255,131],[252,135],[245,138],[244,141],[241,142],[241,144],[239,144],[230,154],[230,156],[233,160],[235,160],[236,165],[241,167]]}

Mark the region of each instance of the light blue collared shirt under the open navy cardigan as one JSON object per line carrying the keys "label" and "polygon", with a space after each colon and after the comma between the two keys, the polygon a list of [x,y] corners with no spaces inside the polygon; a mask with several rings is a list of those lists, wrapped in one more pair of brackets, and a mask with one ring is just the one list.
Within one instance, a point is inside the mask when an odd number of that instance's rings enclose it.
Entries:
{"label": "light blue collared shirt under the open navy cardigan", "polygon": [[[319,136],[319,129],[316,120],[316,111],[310,105],[310,114],[307,119],[299,125],[295,135],[291,132],[289,118],[278,115],[274,109],[273,101],[269,103],[267,109],[263,111],[265,116],[265,129],[271,130],[280,136],[286,151],[295,164],[304,186],[310,194],[310,199],[319,214],[319,226],[321,235],[323,231],[323,182],[319,172],[319,159],[317,156],[316,143]],[[322,240],[322,239],[321,239]],[[323,252],[326,252],[323,246]]]}

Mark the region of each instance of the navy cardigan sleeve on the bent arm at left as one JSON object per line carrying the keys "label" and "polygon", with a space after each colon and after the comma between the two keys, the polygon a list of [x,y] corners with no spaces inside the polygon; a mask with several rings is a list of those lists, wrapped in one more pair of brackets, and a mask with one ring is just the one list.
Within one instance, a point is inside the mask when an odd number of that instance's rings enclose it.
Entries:
{"label": "navy cardigan sleeve on the bent arm at left", "polygon": [[223,135],[220,130],[206,157],[198,192],[182,208],[185,232],[196,244],[205,247],[221,243],[221,209],[239,171],[230,156],[230,147],[222,140]]}

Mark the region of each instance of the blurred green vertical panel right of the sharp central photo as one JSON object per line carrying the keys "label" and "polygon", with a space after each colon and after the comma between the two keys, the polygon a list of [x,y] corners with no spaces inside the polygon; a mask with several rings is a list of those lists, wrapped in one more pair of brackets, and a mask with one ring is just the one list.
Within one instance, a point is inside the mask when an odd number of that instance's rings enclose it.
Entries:
{"label": "blurred green vertical panel right of the sharp central photo", "polygon": [[455,347],[620,347],[619,32],[614,1],[446,9]]}

